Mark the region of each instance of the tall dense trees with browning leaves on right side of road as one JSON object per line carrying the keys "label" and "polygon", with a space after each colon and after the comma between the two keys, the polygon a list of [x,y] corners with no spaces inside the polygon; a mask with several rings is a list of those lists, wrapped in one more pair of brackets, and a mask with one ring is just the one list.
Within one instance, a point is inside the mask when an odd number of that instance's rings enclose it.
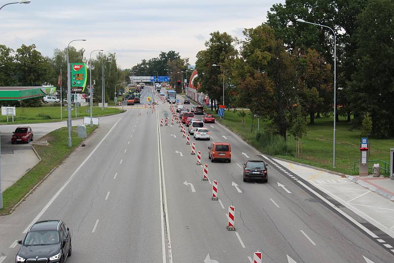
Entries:
{"label": "tall dense trees with browning leaves on right side of road", "polygon": [[[225,104],[247,107],[284,138],[302,136],[309,117],[333,116],[333,29],[337,48],[337,115],[372,134],[394,135],[394,1],[286,0],[267,21],[239,40],[213,32],[197,53],[201,91]],[[220,66],[212,66],[213,64]],[[216,107],[213,105],[212,107]],[[366,135],[366,134],[365,134]]]}

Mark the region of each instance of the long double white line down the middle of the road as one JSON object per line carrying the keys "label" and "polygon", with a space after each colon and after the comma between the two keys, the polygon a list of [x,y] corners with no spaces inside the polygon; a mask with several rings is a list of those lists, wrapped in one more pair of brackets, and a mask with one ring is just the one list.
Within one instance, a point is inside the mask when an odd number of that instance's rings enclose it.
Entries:
{"label": "long double white line down the middle of the road", "polygon": [[[156,122],[156,126],[157,126],[157,144],[158,144],[158,156],[160,156],[159,159],[159,188],[160,188],[160,213],[161,213],[161,225],[162,225],[162,248],[163,248],[163,263],[167,262],[167,256],[165,253],[165,237],[164,237],[164,211],[163,211],[163,201],[164,201],[164,209],[165,209],[165,226],[167,228],[167,239],[168,239],[168,260],[169,263],[172,263],[172,251],[171,251],[171,238],[170,238],[170,234],[169,234],[169,222],[168,222],[168,209],[167,209],[167,196],[165,193],[165,180],[164,180],[164,170],[162,170],[162,166],[161,164],[164,165],[163,163],[163,152],[162,152],[162,148],[160,147],[161,142],[162,142],[162,137],[160,134],[160,127],[159,127],[159,112],[156,111],[156,118],[157,118],[157,122]],[[162,183],[163,180],[163,183]],[[163,184],[163,190],[162,191],[162,184]],[[163,200],[163,194],[164,194],[164,200]]]}

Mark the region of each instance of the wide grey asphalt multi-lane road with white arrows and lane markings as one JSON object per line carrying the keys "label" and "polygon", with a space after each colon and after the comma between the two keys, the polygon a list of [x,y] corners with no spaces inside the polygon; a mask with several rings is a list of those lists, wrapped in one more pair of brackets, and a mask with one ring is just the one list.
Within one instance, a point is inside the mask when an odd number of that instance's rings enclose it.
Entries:
{"label": "wide grey asphalt multi-lane road with white arrows and lane markings", "polygon": [[[141,102],[152,97],[142,91]],[[218,124],[195,141],[209,181],[178,125],[160,126],[168,103],[134,107],[100,125],[13,214],[0,218],[0,263],[11,263],[32,222],[62,219],[71,228],[67,262],[390,263],[392,239],[257,152]],[[139,116],[139,113],[141,115]],[[211,163],[212,141],[231,144],[231,163]],[[243,182],[242,164],[264,160],[268,183]],[[267,160],[268,159],[268,160]],[[219,200],[211,200],[212,180]],[[235,207],[235,231],[228,208]]]}

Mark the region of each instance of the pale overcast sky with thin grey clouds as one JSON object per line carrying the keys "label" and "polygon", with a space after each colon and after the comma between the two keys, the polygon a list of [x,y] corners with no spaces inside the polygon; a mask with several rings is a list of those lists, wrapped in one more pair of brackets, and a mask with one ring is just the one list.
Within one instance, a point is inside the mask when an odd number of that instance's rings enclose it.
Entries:
{"label": "pale overcast sky with thin grey clouds", "polygon": [[242,37],[244,28],[266,21],[278,2],[284,0],[32,0],[0,10],[0,43],[14,49],[35,44],[52,57],[55,48],[85,38],[74,44],[85,56],[94,49],[115,52],[122,68],[169,50],[193,65],[209,33]]}

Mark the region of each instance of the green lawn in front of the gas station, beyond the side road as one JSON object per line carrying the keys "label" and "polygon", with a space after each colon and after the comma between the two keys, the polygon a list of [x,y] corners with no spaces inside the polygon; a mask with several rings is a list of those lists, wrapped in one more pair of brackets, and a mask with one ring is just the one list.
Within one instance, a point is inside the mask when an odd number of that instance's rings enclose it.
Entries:
{"label": "green lawn in front of the gas station, beyond the side road", "polygon": [[[89,106],[78,107],[77,118],[83,118],[85,116],[90,117]],[[63,118],[67,119],[67,107],[62,107]],[[105,116],[112,115],[122,112],[121,109],[116,108],[105,108],[101,110],[100,107],[93,107],[93,116]],[[75,119],[75,107],[72,106],[71,117]],[[46,123],[46,122],[56,122],[61,121],[60,119],[60,106],[42,106],[42,107],[17,107],[16,116],[14,116],[14,123],[12,123],[12,117],[0,116],[0,124],[24,124],[24,123]]]}

